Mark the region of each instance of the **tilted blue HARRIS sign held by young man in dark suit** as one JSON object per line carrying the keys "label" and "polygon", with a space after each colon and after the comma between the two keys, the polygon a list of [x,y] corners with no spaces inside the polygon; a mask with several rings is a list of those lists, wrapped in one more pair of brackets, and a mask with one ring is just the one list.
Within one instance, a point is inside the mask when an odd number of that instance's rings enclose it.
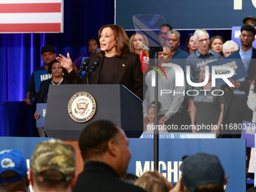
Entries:
{"label": "tilted blue HARRIS sign held by young man in dark suit", "polygon": [[[208,63],[207,65],[209,66],[209,72],[211,73],[211,75],[212,66],[229,66],[234,70],[234,75],[231,77],[234,80],[238,80],[240,78],[245,78],[248,76],[239,53],[225,57],[224,59],[218,59],[215,62]],[[218,69],[215,72],[216,75],[225,75],[229,73],[230,71],[221,69]],[[215,81],[215,86],[221,86],[222,84],[226,83],[221,78],[217,78]]]}

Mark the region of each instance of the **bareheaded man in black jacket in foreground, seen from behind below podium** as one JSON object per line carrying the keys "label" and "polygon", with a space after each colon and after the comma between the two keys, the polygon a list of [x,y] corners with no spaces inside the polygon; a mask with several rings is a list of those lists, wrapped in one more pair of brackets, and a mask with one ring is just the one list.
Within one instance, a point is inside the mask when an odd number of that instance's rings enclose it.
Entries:
{"label": "bareheaded man in black jacket in foreground, seen from behind below podium", "polygon": [[84,171],[78,175],[73,192],[145,191],[120,181],[130,161],[128,139],[123,130],[109,120],[98,120],[84,128],[79,148]]}

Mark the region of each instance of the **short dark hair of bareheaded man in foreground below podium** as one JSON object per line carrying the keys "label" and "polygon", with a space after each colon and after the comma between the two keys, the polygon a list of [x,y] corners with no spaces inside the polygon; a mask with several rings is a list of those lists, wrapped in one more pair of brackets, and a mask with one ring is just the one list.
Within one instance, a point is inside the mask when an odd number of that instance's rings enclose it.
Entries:
{"label": "short dark hair of bareheaded man in foreground below podium", "polygon": [[85,126],[78,141],[83,159],[104,154],[108,141],[114,139],[117,133],[117,126],[109,120],[97,120]]}

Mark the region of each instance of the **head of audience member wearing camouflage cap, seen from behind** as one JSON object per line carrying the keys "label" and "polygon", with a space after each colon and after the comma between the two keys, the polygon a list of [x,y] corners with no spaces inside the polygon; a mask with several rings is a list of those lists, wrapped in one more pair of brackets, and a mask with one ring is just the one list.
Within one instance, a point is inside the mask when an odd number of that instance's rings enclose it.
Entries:
{"label": "head of audience member wearing camouflage cap, seen from behind", "polygon": [[50,139],[36,145],[29,171],[35,192],[72,191],[75,174],[75,150],[59,139]]}

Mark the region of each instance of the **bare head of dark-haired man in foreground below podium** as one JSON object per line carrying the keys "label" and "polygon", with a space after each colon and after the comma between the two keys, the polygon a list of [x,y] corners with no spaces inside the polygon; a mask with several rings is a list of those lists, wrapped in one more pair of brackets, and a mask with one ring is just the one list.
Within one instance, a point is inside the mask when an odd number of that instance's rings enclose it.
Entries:
{"label": "bare head of dark-haired man in foreground below podium", "polygon": [[131,158],[128,144],[123,130],[109,120],[90,123],[84,128],[79,139],[85,163],[91,160],[106,163],[119,177],[126,174]]}

